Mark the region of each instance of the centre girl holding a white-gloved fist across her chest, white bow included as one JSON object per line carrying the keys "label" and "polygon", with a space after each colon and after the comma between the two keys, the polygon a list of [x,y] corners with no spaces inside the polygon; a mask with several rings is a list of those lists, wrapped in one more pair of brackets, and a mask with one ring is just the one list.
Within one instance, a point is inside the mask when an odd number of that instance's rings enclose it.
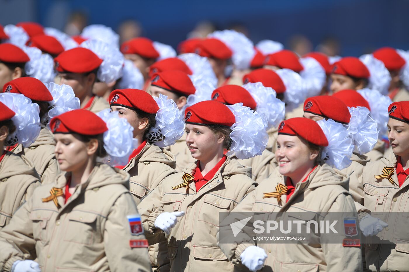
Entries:
{"label": "centre girl holding a white-gloved fist across her chest, white bow included", "polygon": [[261,154],[265,127],[249,130],[249,124],[263,122],[260,115],[241,103],[217,101],[188,107],[185,122],[186,144],[197,161],[165,178],[139,204],[144,229],[148,234],[166,233],[171,271],[233,271],[217,245],[219,212],[233,210],[255,187],[250,167],[229,155]]}

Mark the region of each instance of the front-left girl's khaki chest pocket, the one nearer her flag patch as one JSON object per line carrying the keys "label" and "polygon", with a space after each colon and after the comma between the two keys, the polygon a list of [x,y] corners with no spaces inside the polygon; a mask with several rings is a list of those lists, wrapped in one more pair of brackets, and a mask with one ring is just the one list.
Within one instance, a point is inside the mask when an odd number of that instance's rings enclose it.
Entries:
{"label": "front-left girl's khaki chest pocket, the one nearer her flag patch", "polygon": [[102,241],[97,225],[97,214],[73,210],[68,217],[68,227],[64,241],[81,245],[92,245]]}

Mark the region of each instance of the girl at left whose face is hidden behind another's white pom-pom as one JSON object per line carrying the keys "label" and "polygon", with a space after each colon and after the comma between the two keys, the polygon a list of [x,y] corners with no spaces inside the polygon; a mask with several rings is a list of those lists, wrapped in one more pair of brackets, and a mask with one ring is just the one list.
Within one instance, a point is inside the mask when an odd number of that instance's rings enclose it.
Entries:
{"label": "girl at left whose face is hidden behind another's white pom-pom", "polygon": [[30,98],[40,108],[40,134],[35,142],[24,148],[22,145],[13,146],[10,151],[24,154],[36,168],[41,183],[52,183],[60,173],[55,158],[55,140],[49,132],[49,121],[52,117],[65,111],[79,109],[79,99],[68,85],[50,83],[49,88],[36,78],[24,77],[7,82],[3,87],[4,92],[23,94]]}

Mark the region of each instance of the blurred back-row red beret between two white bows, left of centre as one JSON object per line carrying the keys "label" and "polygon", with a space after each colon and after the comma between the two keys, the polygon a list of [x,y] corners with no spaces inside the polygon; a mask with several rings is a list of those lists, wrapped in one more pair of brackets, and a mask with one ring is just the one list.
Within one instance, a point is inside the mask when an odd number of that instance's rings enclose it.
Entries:
{"label": "blurred back-row red beret between two white bows, left of centre", "polygon": [[159,53],[148,38],[133,38],[121,46],[122,54],[137,54],[144,58],[159,58]]}

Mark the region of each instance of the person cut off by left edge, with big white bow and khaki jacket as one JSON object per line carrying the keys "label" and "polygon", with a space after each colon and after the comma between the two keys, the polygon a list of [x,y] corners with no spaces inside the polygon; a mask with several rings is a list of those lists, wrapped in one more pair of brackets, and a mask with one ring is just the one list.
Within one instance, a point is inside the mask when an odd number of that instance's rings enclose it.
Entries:
{"label": "person cut off by left edge, with big white bow and khaki jacket", "polygon": [[0,230],[40,185],[33,163],[4,149],[34,142],[40,131],[38,111],[22,94],[0,94]]}

